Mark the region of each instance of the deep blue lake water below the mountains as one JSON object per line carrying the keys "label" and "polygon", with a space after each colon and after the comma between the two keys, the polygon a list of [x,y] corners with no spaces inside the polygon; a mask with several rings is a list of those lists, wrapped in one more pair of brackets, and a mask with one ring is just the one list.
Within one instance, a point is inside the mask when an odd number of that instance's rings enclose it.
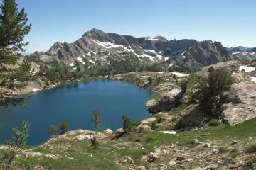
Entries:
{"label": "deep blue lake water below the mountains", "polygon": [[45,142],[50,125],[59,125],[63,120],[68,120],[69,130],[95,130],[92,123],[95,109],[102,116],[100,130],[116,130],[122,126],[122,115],[131,120],[149,117],[145,103],[153,95],[132,84],[101,79],[37,91],[29,98],[28,108],[0,108],[0,143],[9,139],[11,128],[20,126],[23,120],[30,124],[29,145]]}

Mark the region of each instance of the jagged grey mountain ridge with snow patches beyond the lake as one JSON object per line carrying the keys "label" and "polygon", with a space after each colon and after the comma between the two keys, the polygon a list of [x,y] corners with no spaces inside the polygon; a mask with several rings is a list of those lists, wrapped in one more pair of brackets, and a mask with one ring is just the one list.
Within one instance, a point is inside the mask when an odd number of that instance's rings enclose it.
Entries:
{"label": "jagged grey mountain ridge with snow patches beyond the lake", "polygon": [[75,42],[55,42],[46,52],[35,52],[36,60],[58,62],[75,67],[75,63],[95,64],[127,61],[133,64],[161,63],[199,68],[231,60],[230,51],[220,42],[206,40],[166,40],[161,36],[135,38],[92,29]]}

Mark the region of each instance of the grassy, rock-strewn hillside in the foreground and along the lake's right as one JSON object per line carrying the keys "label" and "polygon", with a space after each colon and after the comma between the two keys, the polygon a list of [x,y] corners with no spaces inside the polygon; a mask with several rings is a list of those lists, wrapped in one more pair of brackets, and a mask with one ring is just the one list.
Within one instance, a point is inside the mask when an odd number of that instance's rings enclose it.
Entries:
{"label": "grassy, rock-strewn hillside in the foreground and along the lake's right", "polygon": [[[198,82],[208,77],[210,67],[225,67],[235,80],[220,120],[214,121],[198,109],[195,98]],[[193,74],[130,72],[107,77],[156,91],[146,103],[151,117],[132,123],[129,133],[119,128],[98,135],[74,130],[52,136],[43,145],[23,149],[15,167],[25,162],[36,169],[256,169],[255,67],[255,62],[229,61]],[[180,87],[184,79],[186,92]],[[97,147],[92,146],[94,136]],[[0,154],[5,149],[1,146]]]}

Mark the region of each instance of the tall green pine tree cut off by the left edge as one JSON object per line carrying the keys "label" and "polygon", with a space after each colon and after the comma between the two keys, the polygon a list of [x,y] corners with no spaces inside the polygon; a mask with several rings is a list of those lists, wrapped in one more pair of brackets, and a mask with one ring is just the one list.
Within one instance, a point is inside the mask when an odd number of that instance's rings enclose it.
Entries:
{"label": "tall green pine tree cut off by the left edge", "polygon": [[22,61],[21,55],[26,51],[28,42],[23,38],[31,25],[24,8],[18,11],[15,0],[4,0],[0,8],[0,106],[16,106],[24,98],[15,98],[14,90],[23,89],[34,79],[31,64]]}

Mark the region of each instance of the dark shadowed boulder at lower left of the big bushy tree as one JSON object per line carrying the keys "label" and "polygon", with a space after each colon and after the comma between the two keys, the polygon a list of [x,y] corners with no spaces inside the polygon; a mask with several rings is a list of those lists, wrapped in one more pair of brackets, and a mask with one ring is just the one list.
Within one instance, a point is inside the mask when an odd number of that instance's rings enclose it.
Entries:
{"label": "dark shadowed boulder at lower left of the big bushy tree", "polygon": [[198,126],[204,122],[204,113],[198,105],[188,108],[181,114],[181,123],[184,126]]}

